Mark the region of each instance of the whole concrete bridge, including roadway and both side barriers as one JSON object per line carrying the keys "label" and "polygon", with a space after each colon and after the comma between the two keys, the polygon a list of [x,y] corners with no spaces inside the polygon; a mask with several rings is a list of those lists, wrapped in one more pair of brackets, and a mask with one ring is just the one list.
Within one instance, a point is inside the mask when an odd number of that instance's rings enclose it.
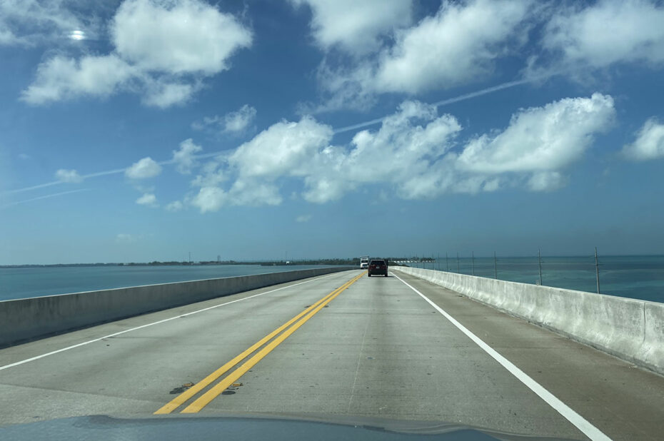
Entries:
{"label": "whole concrete bridge, including roadway and both side barriers", "polygon": [[258,277],[0,302],[0,438],[228,412],[663,437],[664,305],[402,267]]}

